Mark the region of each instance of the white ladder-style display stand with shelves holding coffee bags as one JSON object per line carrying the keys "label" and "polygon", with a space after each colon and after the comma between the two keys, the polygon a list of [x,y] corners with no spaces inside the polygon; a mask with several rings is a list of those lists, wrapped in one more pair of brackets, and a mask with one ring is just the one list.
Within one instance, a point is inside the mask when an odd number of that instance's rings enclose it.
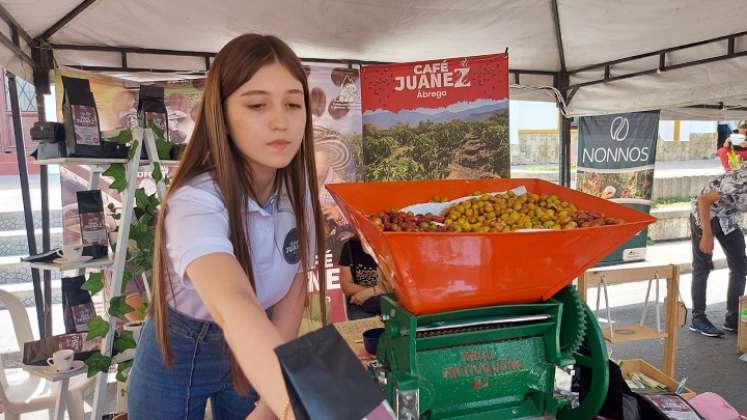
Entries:
{"label": "white ladder-style display stand with shelves holding coffee bags", "polygon": [[[161,161],[158,159],[158,150],[156,148],[155,137],[150,129],[133,129],[132,136],[137,140],[135,154],[131,160],[126,159],[96,159],[96,158],[59,158],[37,161],[40,165],[87,165],[91,167],[91,176],[88,180],[89,189],[97,189],[101,173],[104,172],[111,164],[121,163],[125,165],[125,174],[127,178],[127,187],[122,192],[122,212],[119,220],[120,226],[117,231],[117,243],[127,243],[130,237],[130,226],[134,217],[135,190],[137,189],[138,171],[144,166],[158,163],[164,167],[173,167],[178,164],[177,161]],[[148,150],[148,156],[154,156],[154,159],[140,160],[143,145]],[[159,198],[163,200],[166,194],[166,185],[163,180],[156,183],[156,190]],[[127,258],[127,247],[117,247],[113,255],[106,258],[77,262],[77,263],[29,263],[31,267],[47,271],[69,271],[77,270],[79,274],[85,274],[88,269],[91,270],[108,270],[112,273],[111,283],[109,285],[109,298],[122,295],[122,281],[125,272],[125,263]],[[109,302],[105,302],[107,310],[105,317],[109,318],[110,325],[116,325],[116,319],[108,314]],[[101,354],[107,357],[112,355],[112,346],[114,344],[114,328],[109,328],[101,342]],[[134,357],[134,351],[125,352],[114,358],[114,363],[121,363],[131,360]],[[108,373],[99,373],[96,377],[94,392],[94,403],[92,419],[100,419],[103,416],[106,407]]]}

